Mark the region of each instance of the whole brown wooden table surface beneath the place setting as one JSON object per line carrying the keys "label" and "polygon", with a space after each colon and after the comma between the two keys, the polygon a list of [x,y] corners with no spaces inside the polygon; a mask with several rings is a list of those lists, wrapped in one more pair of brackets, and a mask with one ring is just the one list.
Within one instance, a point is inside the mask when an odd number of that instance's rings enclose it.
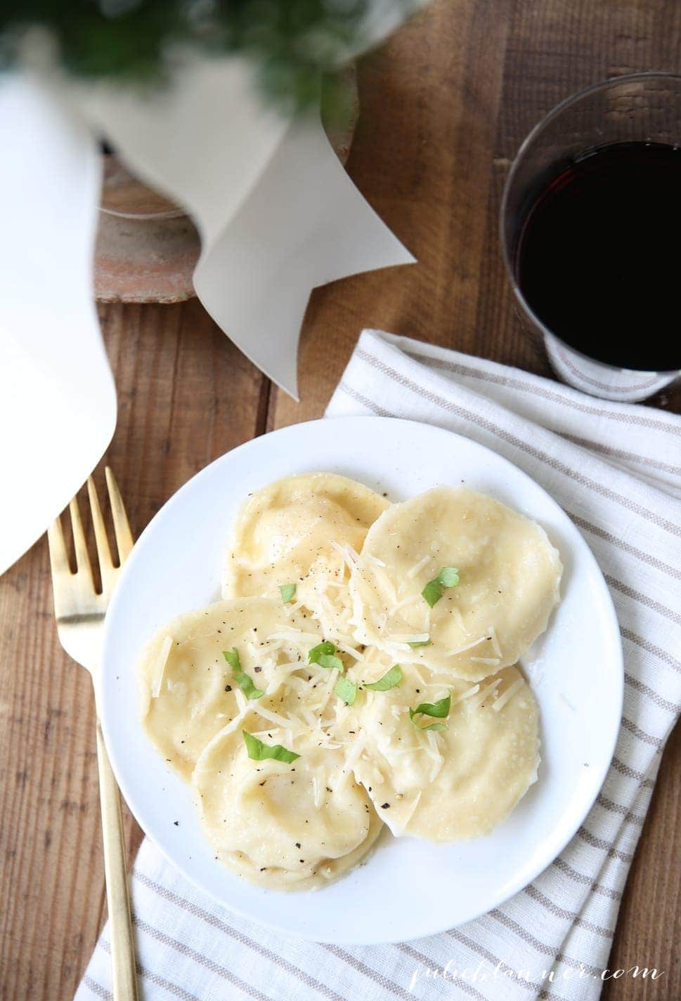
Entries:
{"label": "whole brown wooden table surface beneath the place setting", "polygon": [[[321,414],[363,326],[549,374],[514,316],[499,250],[510,161],[573,91],[635,70],[678,72],[680,38],[677,0],[442,0],[365,59],[348,169],[419,263],[313,293],[300,403],[261,376],[196,300],[101,307],[119,403],[106,460],[135,532],[215,456]],[[652,403],[680,401],[677,393]],[[0,581],[0,997],[66,1001],[105,902],[90,681],[57,642],[44,540]],[[132,858],[140,832],[130,816],[125,828]],[[611,982],[608,1001],[681,997],[680,831],[677,732],[610,962],[665,976]]]}

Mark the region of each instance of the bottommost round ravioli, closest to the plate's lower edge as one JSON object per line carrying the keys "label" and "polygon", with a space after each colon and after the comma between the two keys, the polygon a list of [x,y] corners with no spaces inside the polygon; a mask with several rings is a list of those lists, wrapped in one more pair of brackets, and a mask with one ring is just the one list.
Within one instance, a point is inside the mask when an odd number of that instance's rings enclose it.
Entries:
{"label": "bottommost round ravioli, closest to the plate's lower edge", "polygon": [[257,708],[244,722],[267,745],[300,755],[286,763],[251,760],[240,728],[227,727],[201,754],[192,776],[203,830],[220,860],[249,882],[275,890],[324,886],[356,866],[382,822],[366,791],[343,773],[338,751],[284,730],[257,730]]}

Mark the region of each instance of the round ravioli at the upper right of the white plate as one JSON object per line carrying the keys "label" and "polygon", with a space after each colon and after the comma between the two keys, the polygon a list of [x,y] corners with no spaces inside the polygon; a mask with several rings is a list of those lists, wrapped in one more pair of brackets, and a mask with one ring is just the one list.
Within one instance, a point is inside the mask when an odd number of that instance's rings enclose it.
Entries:
{"label": "round ravioli at the upper right of the white plate", "polygon": [[[431,608],[422,592],[443,568],[456,568],[459,584]],[[535,522],[467,487],[438,486],[370,529],[350,584],[356,640],[479,681],[546,630],[562,570]]]}

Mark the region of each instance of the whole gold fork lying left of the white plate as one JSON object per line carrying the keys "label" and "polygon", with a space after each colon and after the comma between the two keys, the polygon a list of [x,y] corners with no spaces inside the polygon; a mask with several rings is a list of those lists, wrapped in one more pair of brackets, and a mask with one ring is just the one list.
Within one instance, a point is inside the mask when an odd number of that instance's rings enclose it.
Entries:
{"label": "whole gold fork lying left of the white plate", "polygon": [[113,473],[108,466],[105,472],[119,566],[114,567],[111,559],[97,491],[90,476],[87,480],[87,493],[90,500],[102,582],[100,595],[95,592],[94,588],[92,569],[85,544],[85,533],[76,497],[73,497],[69,505],[73,545],[76,553],[77,570],[75,574],[71,572],[69,567],[61,522],[58,518],[48,529],[47,538],[52,568],[54,614],[57,620],[59,642],[69,657],[77,664],[87,668],[92,676],[94,687],[95,707],[97,709],[97,766],[102,813],[102,838],[104,841],[106,901],[111,938],[113,998],[114,1001],[137,1001],[135,951],[130,921],[125,846],[120,816],[120,794],[106,754],[98,706],[99,658],[104,613],[117,584],[121,567],[132,549],[132,533]]}

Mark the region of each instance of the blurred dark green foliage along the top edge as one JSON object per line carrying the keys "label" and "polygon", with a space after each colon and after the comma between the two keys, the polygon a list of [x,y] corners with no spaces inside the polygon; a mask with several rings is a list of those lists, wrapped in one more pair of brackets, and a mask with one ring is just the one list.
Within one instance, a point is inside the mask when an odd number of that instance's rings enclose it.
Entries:
{"label": "blurred dark green foliage along the top edge", "polygon": [[[11,64],[27,28],[49,29],[79,77],[162,79],[177,43],[255,58],[266,94],[286,109],[319,99],[320,80],[362,48],[369,0],[5,0],[0,59]],[[342,84],[323,82],[326,108]]]}

